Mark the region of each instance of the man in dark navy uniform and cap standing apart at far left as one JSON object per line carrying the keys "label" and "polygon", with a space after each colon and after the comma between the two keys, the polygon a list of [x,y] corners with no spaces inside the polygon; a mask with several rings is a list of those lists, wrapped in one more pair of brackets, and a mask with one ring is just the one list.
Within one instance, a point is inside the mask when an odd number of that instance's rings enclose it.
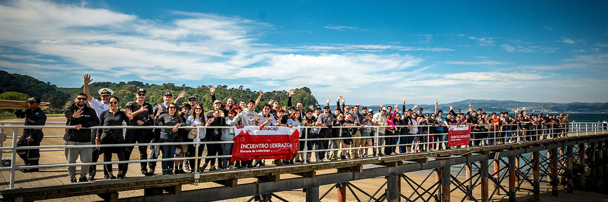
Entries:
{"label": "man in dark navy uniform and cap standing apart at far left", "polygon": [[[44,126],[46,115],[38,107],[40,105],[40,98],[32,97],[27,99],[26,102],[30,109],[26,109],[25,112],[16,110],[15,115],[17,118],[26,118],[25,126]],[[17,141],[17,146],[40,146],[43,136],[42,129],[23,129],[23,135]],[[17,154],[26,163],[26,166],[38,166],[40,149],[18,149]],[[38,169],[22,169],[21,172],[38,172]]]}

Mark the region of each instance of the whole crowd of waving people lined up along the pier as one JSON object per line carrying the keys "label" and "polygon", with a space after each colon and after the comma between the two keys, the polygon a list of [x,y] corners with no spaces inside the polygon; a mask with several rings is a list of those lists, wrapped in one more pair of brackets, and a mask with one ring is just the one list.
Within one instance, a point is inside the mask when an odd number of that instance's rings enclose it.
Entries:
{"label": "whole crowd of waving people lined up along the pier", "polygon": [[[215,88],[209,87],[213,108],[206,111],[195,96],[189,96],[187,103],[180,104],[185,97],[181,92],[175,99],[170,92],[164,93],[163,102],[152,106],[145,101],[146,90],[139,89],[134,101],[127,102],[124,110],[120,110],[120,101],[112,96],[111,89],[100,89],[100,99],[91,96],[88,84],[92,81],[90,75],[84,76],[83,93],[74,98],[65,112],[67,126],[64,134],[65,145],[92,144],[134,144],[134,143],[184,143],[139,146],[140,160],[162,158],[202,157],[207,150],[207,157],[201,160],[167,160],[161,161],[163,175],[173,175],[186,172],[205,172],[206,170],[241,169],[264,166],[265,160],[231,161],[227,158],[216,158],[221,155],[232,155],[235,137],[234,129],[214,128],[189,129],[181,126],[285,126],[306,127],[300,133],[299,150],[314,151],[317,162],[345,160],[348,158],[367,158],[398,153],[414,153],[447,147],[447,129],[451,125],[467,125],[471,129],[469,146],[484,146],[492,144],[512,143],[514,141],[534,141],[545,138],[559,138],[568,132],[569,116],[562,114],[549,115],[541,112],[535,115],[535,110],[528,113],[523,107],[511,112],[486,113],[482,109],[469,108],[464,111],[454,110],[448,106],[446,113],[438,109],[435,102],[434,113],[423,113],[424,109],[414,105],[406,109],[403,101],[401,112],[399,106],[384,107],[379,104],[378,112],[361,105],[348,105],[343,96],[336,101],[336,108],[331,110],[330,99],[325,106],[308,106],[305,109],[302,102],[292,106],[294,90],[288,94],[287,106],[282,107],[279,101],[270,100],[261,107],[261,112],[255,112],[260,104],[262,91],[258,98],[237,101],[227,98],[225,102],[216,99]],[[173,102],[172,102],[173,101]],[[340,103],[341,101],[341,103]],[[40,98],[30,98],[30,109],[26,112],[18,110],[19,117],[25,117],[26,125],[44,125],[46,116],[37,107]],[[88,103],[88,106],[87,104]],[[511,113],[511,114],[510,114]],[[445,116],[444,116],[445,115]],[[137,128],[123,129],[104,128],[90,129],[92,126],[173,126],[163,129]],[[339,127],[342,126],[342,127]],[[38,146],[43,138],[40,129],[26,129],[24,136],[19,139],[18,146]],[[332,140],[317,140],[334,138]],[[306,139],[306,140],[302,140]],[[224,141],[224,143],[221,143]],[[216,143],[220,142],[220,143]],[[226,143],[227,142],[227,143]],[[196,147],[197,143],[199,146]],[[104,146],[66,148],[67,163],[97,162],[103,154],[103,161],[111,161],[112,153],[117,154],[119,161],[130,160],[134,147]],[[370,154],[371,150],[371,154]],[[19,156],[26,161],[27,166],[38,165],[40,153],[36,149],[18,150]],[[313,152],[300,152],[293,159],[274,160],[277,166],[293,163],[311,162]],[[142,175],[155,174],[156,162],[140,163]],[[209,167],[209,169],[207,169]],[[24,169],[22,172],[36,172],[38,169]],[[80,178],[77,179],[76,166],[67,167],[72,183],[95,180],[95,166],[81,166]],[[103,166],[104,178],[125,178],[127,164],[119,164],[117,175],[112,172],[112,165]],[[87,174],[89,175],[87,177]]]}

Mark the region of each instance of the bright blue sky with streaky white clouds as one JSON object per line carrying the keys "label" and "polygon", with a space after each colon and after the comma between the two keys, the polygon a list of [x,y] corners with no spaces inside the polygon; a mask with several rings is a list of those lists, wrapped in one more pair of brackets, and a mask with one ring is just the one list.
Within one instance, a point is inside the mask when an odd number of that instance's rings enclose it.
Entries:
{"label": "bright blue sky with streaky white clouds", "polygon": [[2,1],[0,69],[309,87],[320,103],[608,101],[606,1]]}

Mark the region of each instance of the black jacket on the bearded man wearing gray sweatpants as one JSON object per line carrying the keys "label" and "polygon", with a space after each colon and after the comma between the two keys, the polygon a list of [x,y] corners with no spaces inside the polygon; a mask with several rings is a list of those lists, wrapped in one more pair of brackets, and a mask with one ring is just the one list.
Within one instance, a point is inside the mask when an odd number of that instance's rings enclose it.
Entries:
{"label": "black jacket on the bearded man wearing gray sweatpants", "polygon": [[91,129],[85,129],[91,126],[99,126],[99,118],[97,117],[97,113],[91,107],[83,107],[83,112],[81,113],[80,118],[74,118],[74,112],[78,110],[76,104],[72,104],[72,106],[68,107],[66,110],[66,126],[76,126],[78,124],[82,124],[82,129],[66,129],[65,135],[63,135],[63,140],[65,141],[75,141],[78,143],[90,143],[91,142]]}

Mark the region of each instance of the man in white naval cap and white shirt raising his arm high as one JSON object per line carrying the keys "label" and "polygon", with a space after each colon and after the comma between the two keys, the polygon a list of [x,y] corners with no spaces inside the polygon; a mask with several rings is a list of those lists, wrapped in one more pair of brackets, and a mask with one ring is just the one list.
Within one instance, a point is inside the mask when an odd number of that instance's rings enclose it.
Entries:
{"label": "man in white naval cap and white shirt raising his arm high", "polygon": [[[92,109],[95,110],[95,113],[97,113],[97,118],[99,118],[99,115],[102,114],[102,112],[105,112],[106,110],[110,109],[110,105],[109,105],[109,101],[110,101],[110,96],[112,96],[112,94],[114,94],[114,91],[112,91],[111,89],[99,89],[97,91],[97,93],[99,93],[101,101],[97,100],[95,98],[93,98],[93,96],[91,96],[91,94],[89,93],[89,83],[93,81],[93,79],[91,79],[91,75],[86,74],[85,75],[85,79],[84,79],[84,85],[83,85],[83,92],[86,94],[87,96],[87,102],[89,103],[89,106],[91,106]],[[95,135],[97,134],[97,129],[91,129],[91,143],[95,144]],[[99,155],[102,155],[102,153],[99,153],[100,150],[98,148],[94,148],[93,149],[93,156],[92,156],[92,161],[93,162],[97,162],[97,160],[99,159]],[[108,178],[108,170],[106,170],[105,166],[103,167],[103,175],[104,178]],[[97,172],[97,166],[96,165],[92,165],[91,168],[89,169],[89,181],[95,180],[95,172]]]}

